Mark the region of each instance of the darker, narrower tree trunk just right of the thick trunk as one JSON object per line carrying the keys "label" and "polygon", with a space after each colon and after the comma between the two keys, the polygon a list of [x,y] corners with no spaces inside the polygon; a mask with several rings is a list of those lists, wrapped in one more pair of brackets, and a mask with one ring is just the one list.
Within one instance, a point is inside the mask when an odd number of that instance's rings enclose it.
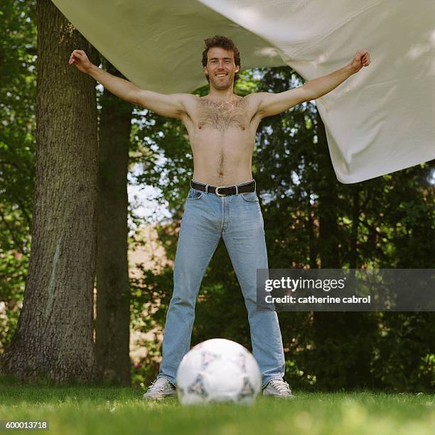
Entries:
{"label": "darker, narrower tree trunk just right of the thick trunk", "polygon": [[[108,62],[106,69],[122,77]],[[106,89],[101,106],[95,340],[97,367],[105,383],[129,385],[127,169],[133,106]]]}

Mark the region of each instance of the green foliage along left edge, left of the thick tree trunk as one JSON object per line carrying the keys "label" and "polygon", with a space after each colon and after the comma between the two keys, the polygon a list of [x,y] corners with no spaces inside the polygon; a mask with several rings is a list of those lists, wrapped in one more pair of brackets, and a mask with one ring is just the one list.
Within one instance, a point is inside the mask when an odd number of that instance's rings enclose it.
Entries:
{"label": "green foliage along left edge, left of the thick tree trunk", "polygon": [[35,1],[0,13],[0,353],[14,334],[30,253],[36,150]]}

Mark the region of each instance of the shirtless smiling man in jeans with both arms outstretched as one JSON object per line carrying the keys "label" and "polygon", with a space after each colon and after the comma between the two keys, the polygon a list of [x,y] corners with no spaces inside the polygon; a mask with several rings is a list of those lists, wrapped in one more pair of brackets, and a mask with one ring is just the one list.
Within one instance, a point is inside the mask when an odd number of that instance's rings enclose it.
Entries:
{"label": "shirtless smiling man in jeans with both arms outstretched", "polygon": [[252,350],[262,372],[263,395],[294,397],[283,380],[284,350],[276,312],[257,310],[256,304],[257,269],[267,269],[268,264],[262,212],[251,172],[255,133],[262,118],[316,100],[369,65],[367,50],[358,50],[345,67],[302,86],[278,94],[258,92],[245,97],[233,92],[240,53],[224,36],[205,40],[203,68],[210,82],[205,97],[143,90],[92,65],[82,50],[74,50],[69,63],[122,100],[181,119],[193,151],[193,179],[178,236],[163,359],[159,375],[144,399],[176,394],[176,371],[190,349],[196,297],[220,237],[245,298]]}

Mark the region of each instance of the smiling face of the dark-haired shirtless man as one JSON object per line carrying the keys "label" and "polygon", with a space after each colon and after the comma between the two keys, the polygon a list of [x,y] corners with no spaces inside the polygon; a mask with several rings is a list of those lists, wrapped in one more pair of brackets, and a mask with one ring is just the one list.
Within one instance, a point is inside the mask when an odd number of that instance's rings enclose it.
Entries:
{"label": "smiling face of the dark-haired shirtless man", "polygon": [[212,47],[207,53],[207,66],[204,73],[208,74],[210,86],[217,90],[226,90],[234,83],[234,75],[238,73],[239,66],[235,65],[234,53],[225,48]]}

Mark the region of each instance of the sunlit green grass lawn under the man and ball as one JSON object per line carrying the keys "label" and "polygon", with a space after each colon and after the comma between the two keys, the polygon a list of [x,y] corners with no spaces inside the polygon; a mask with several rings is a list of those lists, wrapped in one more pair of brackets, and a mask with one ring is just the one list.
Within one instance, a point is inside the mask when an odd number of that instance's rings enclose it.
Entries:
{"label": "sunlit green grass lawn under the man and ball", "polygon": [[[40,434],[434,434],[435,394],[306,393],[293,401],[182,407],[133,388],[36,387],[0,380],[0,419],[47,420]],[[18,433],[8,431],[2,433]],[[23,432],[20,432],[23,433]]]}

